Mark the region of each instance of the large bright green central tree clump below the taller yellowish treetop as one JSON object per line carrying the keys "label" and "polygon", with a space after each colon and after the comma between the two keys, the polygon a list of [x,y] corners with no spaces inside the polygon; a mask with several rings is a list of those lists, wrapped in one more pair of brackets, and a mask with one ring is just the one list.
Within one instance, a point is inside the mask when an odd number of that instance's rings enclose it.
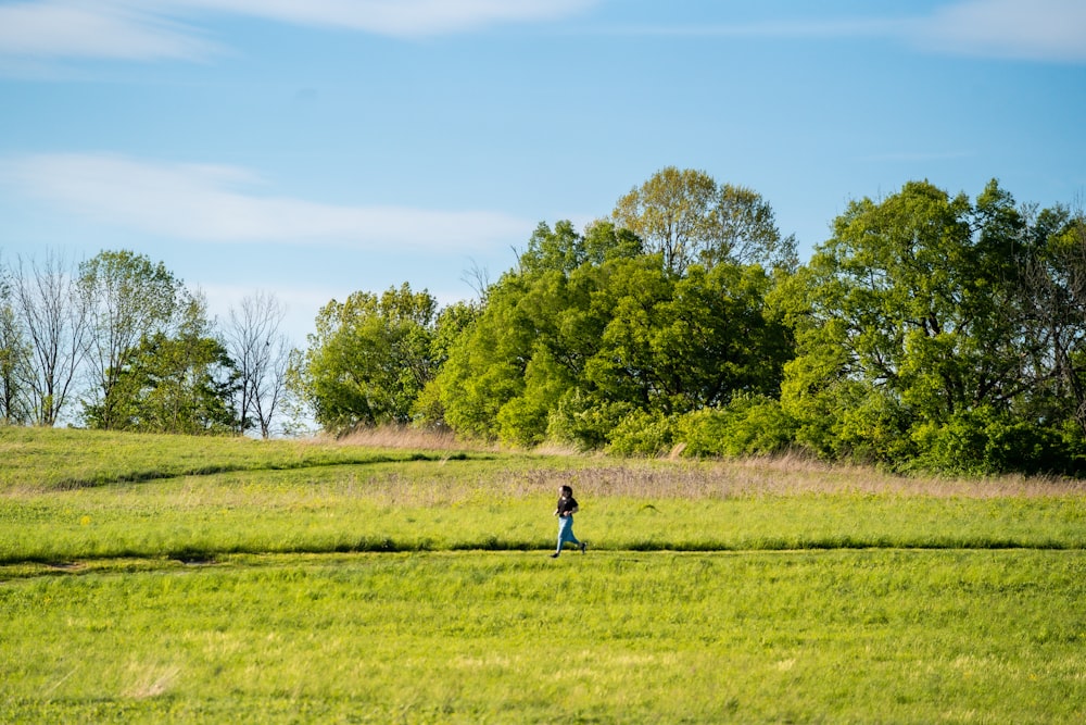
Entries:
{"label": "large bright green central tree clump below the taller yellowish treetop", "polygon": [[675,276],[660,259],[609,223],[583,236],[540,225],[450,348],[434,382],[444,421],[512,443],[601,448],[620,436],[615,450],[644,451],[667,436],[655,423],[639,433],[639,421],[775,390],[791,340],[762,314],[771,279],[731,263]]}

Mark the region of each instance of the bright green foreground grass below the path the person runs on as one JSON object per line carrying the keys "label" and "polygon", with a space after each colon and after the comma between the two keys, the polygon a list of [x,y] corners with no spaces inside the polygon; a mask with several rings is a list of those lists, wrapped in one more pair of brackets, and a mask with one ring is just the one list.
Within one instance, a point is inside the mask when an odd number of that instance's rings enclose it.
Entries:
{"label": "bright green foreground grass below the path the person runs on", "polygon": [[1077,551],[98,562],[0,584],[0,721],[1075,723],[1084,596]]}

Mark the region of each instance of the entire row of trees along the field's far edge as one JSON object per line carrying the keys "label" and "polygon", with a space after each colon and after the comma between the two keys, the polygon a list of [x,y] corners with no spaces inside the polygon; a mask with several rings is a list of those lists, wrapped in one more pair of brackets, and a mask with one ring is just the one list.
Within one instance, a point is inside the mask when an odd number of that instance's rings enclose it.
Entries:
{"label": "entire row of trees along the field's far edge", "polygon": [[91,427],[266,436],[299,401],[331,433],[1086,473],[1086,218],[995,180],[853,201],[800,263],[760,195],[668,167],[477,276],[446,307],[407,283],[329,301],[290,351],[274,298],[219,327],[129,252],[74,275],[21,263],[0,287],[0,414],[52,425],[75,398]]}

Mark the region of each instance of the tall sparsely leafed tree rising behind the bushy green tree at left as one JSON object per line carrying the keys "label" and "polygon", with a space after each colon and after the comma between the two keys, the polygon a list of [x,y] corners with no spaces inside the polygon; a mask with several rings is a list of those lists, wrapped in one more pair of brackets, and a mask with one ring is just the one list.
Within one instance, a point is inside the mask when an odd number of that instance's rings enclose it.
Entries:
{"label": "tall sparsely leafed tree rising behind the bushy green tree at left", "polygon": [[79,290],[91,325],[94,387],[88,404],[97,425],[112,428],[114,388],[144,336],[164,333],[178,304],[181,283],[161,262],[128,250],[103,251],[79,265]]}

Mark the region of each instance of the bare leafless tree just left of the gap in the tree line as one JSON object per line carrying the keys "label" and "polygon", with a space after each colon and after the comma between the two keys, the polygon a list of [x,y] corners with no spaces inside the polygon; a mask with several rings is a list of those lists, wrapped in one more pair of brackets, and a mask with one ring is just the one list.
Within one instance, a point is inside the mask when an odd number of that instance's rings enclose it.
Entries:
{"label": "bare leafless tree just left of the gap in the tree line", "polygon": [[242,430],[258,428],[262,438],[283,402],[290,342],[281,332],[286,309],[275,295],[257,291],[230,308],[225,337],[240,375],[237,393]]}

